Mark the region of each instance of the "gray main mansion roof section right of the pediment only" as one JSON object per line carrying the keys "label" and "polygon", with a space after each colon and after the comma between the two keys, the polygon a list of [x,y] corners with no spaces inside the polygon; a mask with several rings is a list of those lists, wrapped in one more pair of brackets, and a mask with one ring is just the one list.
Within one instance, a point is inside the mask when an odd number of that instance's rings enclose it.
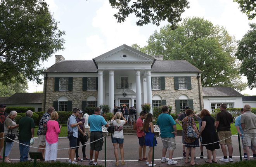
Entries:
{"label": "gray main mansion roof section right of the pediment only", "polygon": [[157,60],[151,72],[202,72],[185,60]]}

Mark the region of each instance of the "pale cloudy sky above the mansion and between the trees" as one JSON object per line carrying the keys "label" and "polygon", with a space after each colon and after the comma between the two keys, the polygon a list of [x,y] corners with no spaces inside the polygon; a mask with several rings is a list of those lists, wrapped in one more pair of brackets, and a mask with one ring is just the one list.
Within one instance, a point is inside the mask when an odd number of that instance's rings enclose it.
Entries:
{"label": "pale cloudy sky above the mansion and between the trees", "polygon": [[[168,24],[163,21],[157,27],[153,24],[137,26],[137,18],[129,15],[123,23],[117,23],[113,15],[117,12],[111,8],[108,0],[45,0],[58,27],[64,30],[64,50],[58,51],[42,62],[48,68],[55,63],[55,55],[62,55],[65,60],[92,60],[112,49],[126,44],[147,45],[147,39],[154,31]],[[134,0],[133,0],[134,1]],[[182,18],[203,17],[214,25],[225,27],[236,40],[242,39],[250,29],[246,14],[240,12],[239,5],[233,0],[189,0],[190,8],[185,9]],[[244,81],[246,77],[242,76]],[[28,92],[43,91],[43,85],[29,82]],[[256,94],[256,88],[240,92]]]}

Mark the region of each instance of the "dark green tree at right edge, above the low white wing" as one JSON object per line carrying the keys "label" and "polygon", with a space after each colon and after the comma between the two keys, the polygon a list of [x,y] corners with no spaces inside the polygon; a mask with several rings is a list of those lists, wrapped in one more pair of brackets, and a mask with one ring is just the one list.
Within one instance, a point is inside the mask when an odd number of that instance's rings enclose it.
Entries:
{"label": "dark green tree at right edge, above the low white wing", "polygon": [[256,88],[256,24],[238,42],[235,55],[242,61],[240,73],[247,77],[250,89]]}

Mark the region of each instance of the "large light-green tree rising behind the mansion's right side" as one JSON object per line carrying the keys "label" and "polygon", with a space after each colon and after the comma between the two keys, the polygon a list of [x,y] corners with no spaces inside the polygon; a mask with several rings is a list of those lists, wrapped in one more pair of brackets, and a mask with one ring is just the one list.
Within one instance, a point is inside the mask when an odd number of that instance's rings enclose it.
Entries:
{"label": "large light-green tree rising behind the mansion's right side", "polygon": [[[138,45],[135,45],[138,48]],[[172,30],[170,25],[154,32],[140,51],[163,55],[165,60],[186,60],[202,72],[202,86],[231,86],[246,89],[236,64],[235,39],[225,28],[199,17],[186,18]]]}

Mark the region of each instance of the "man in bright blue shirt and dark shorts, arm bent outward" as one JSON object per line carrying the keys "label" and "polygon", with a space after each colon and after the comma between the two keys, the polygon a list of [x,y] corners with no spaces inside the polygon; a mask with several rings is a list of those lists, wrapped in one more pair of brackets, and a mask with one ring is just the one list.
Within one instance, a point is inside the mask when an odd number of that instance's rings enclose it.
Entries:
{"label": "man in bright blue shirt and dark shorts, arm bent outward", "polygon": [[[102,134],[102,126],[109,127],[109,124],[106,122],[103,116],[100,116],[100,108],[96,107],[94,109],[94,114],[90,115],[88,118],[88,125],[90,126],[90,142],[91,149],[90,149],[90,165],[97,165],[97,160],[99,156],[99,151],[102,150],[103,145],[103,134]],[[102,138],[102,139],[100,139]],[[99,140],[100,139],[100,140]],[[97,140],[97,142],[94,142]],[[94,155],[94,163],[93,163],[93,153],[95,150]]]}

